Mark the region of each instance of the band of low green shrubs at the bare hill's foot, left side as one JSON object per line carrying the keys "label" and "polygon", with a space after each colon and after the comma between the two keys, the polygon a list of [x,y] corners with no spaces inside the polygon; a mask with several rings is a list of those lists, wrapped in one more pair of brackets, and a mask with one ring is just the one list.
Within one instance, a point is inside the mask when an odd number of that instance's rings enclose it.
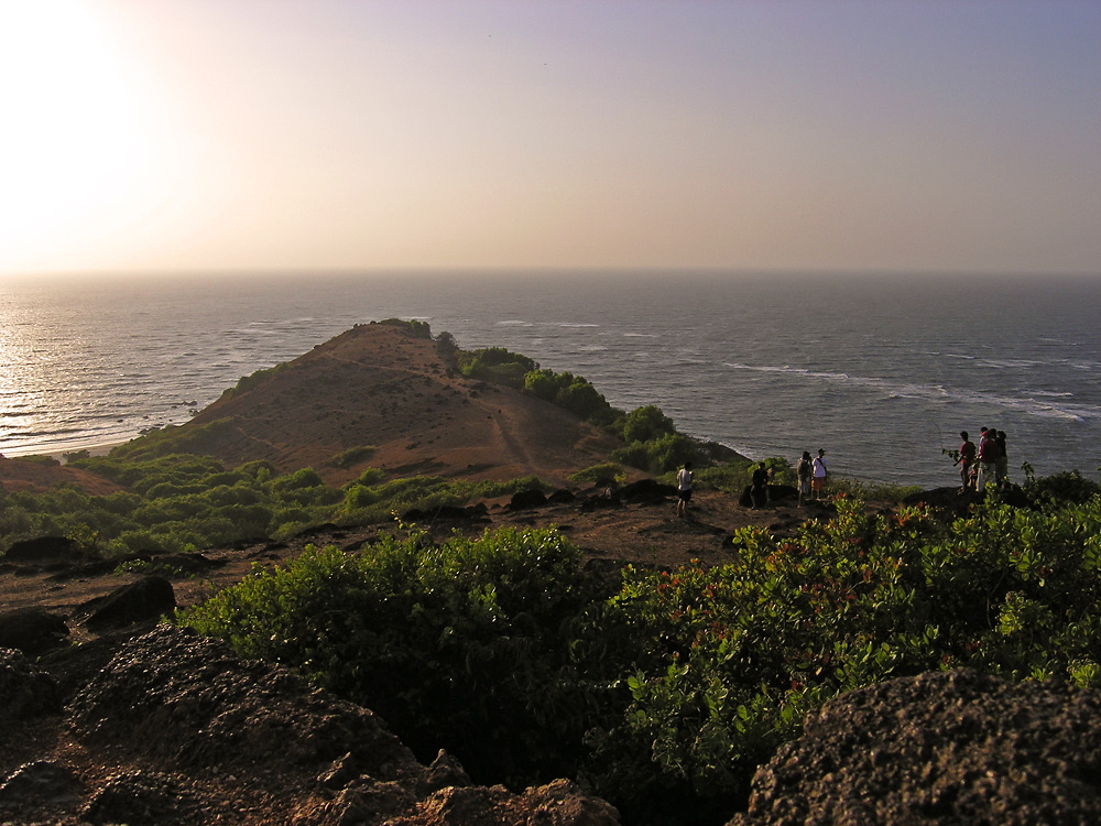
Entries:
{"label": "band of low green shrubs at the bare hill's foot, left side", "polygon": [[440,477],[386,480],[374,468],[339,489],[313,468],[279,475],[270,464],[252,461],[227,470],[210,456],[162,455],[167,443],[152,444],[152,449],[116,449],[72,463],[124,486],[123,492],[91,496],[73,485],[44,493],[0,491],[0,551],[23,539],[65,535],[110,557],[186,553],[241,540],[285,539],[325,523],[391,521],[394,511],[412,508],[550,489],[535,477],[481,483]]}

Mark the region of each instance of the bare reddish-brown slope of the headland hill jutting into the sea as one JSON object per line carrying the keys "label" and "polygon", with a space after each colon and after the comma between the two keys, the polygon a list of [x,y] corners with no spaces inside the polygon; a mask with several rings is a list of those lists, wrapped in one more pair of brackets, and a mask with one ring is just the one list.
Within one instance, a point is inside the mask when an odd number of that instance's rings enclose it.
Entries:
{"label": "bare reddish-brown slope of the headland hill jutting into the sea", "polygon": [[[621,446],[547,402],[465,378],[433,339],[404,325],[353,327],[242,384],[182,430],[217,423],[198,439],[203,453],[282,471],[314,467],[330,483],[367,466],[388,476],[537,474],[560,483]],[[356,465],[330,464],[364,446],[374,449]]]}

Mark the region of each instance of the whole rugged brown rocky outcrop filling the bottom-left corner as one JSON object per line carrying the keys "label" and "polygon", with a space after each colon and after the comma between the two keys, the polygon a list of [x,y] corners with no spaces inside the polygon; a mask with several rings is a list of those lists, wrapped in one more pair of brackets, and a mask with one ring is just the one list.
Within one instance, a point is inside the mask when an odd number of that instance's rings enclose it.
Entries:
{"label": "whole rugged brown rocky outcrop filling the bottom-left corner", "polygon": [[[0,651],[0,707],[56,713],[57,703],[29,705],[52,685],[19,652]],[[4,738],[15,736],[0,727],[0,751],[9,745]],[[183,826],[619,822],[612,806],[567,781],[513,794],[475,785],[445,752],[423,765],[368,709],[168,624],[123,643],[88,680],[59,722],[58,741],[78,746],[50,750],[47,759],[0,776],[0,819]]]}

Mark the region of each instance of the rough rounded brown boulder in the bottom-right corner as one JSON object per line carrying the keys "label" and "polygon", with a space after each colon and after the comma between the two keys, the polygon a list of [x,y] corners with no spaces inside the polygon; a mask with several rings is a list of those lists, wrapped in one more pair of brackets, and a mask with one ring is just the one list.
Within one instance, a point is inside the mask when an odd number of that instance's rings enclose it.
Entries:
{"label": "rough rounded brown boulder in the bottom-right corner", "polygon": [[1101,693],[962,670],[827,703],[730,826],[1099,822]]}

